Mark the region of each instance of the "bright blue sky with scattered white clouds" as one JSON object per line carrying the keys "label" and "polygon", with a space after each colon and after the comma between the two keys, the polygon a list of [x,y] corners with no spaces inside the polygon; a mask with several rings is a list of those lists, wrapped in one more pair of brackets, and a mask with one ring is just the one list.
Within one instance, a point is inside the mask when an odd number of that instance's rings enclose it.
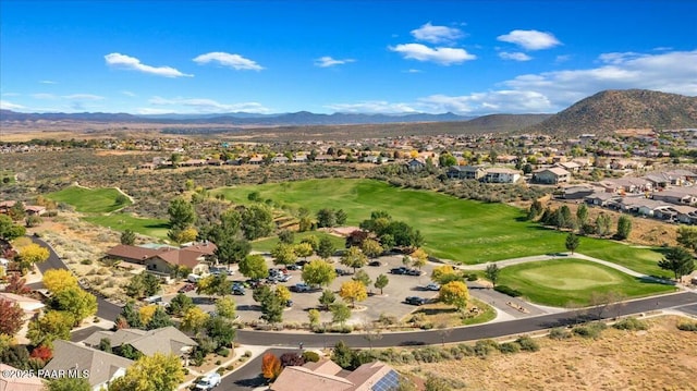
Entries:
{"label": "bright blue sky with scattered white clouds", "polygon": [[24,112],[558,112],[697,96],[697,1],[0,0]]}

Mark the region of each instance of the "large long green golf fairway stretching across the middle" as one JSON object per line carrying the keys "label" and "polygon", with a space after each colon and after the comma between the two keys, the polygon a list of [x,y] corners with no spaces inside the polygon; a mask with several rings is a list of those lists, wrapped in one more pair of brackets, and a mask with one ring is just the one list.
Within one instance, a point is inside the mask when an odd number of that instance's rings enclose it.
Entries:
{"label": "large long green golf fairway stretching across the middle", "polygon": [[[462,264],[481,264],[565,251],[566,232],[526,221],[525,212],[504,204],[460,199],[441,193],[391,186],[375,180],[325,179],[262,185],[223,187],[211,191],[239,204],[259,192],[261,199],[294,208],[305,207],[314,215],[321,208],[343,209],[348,225],[358,225],[374,210],[386,210],[393,219],[418,229],[426,239],[426,251],[436,257]],[[656,262],[661,254],[610,241],[583,237],[578,252],[612,261],[647,274],[664,272]],[[626,264],[625,264],[626,262]]]}

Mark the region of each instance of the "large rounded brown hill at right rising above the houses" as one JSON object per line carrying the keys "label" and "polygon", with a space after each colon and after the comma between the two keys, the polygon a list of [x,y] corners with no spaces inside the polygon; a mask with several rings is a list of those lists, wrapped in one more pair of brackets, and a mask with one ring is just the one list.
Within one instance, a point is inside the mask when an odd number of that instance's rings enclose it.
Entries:
{"label": "large rounded brown hill at right rising above the houses", "polygon": [[647,89],[604,90],[585,98],[527,133],[577,136],[624,129],[697,127],[697,97]]}

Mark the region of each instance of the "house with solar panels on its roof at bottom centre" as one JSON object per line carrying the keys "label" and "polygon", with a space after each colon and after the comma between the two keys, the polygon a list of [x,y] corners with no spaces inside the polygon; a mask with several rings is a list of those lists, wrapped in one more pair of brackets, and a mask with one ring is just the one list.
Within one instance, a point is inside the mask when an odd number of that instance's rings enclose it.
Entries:
{"label": "house with solar panels on its roof at bottom centre", "polygon": [[328,358],[303,366],[289,366],[271,384],[272,391],[384,391],[399,386],[400,374],[384,363],[374,362],[354,371],[343,370]]}

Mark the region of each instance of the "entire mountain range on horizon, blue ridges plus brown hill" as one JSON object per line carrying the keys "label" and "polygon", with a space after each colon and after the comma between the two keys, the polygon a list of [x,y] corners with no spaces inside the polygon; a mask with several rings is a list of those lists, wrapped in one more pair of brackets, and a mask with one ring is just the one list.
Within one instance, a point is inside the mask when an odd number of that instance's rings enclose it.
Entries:
{"label": "entire mountain range on horizon, blue ridges plus brown hill", "polygon": [[[72,121],[100,123],[224,124],[245,126],[327,126],[357,124],[403,124],[416,134],[413,125],[425,133],[521,132],[575,136],[583,133],[612,134],[627,129],[697,129],[697,97],[646,89],[604,90],[579,100],[557,114],[491,114],[465,117],[443,114],[317,114],[307,111],[280,114],[158,114],[127,113],[22,113],[0,110],[0,123],[36,121]],[[420,124],[420,125],[418,125]],[[428,129],[427,129],[428,127]]]}

